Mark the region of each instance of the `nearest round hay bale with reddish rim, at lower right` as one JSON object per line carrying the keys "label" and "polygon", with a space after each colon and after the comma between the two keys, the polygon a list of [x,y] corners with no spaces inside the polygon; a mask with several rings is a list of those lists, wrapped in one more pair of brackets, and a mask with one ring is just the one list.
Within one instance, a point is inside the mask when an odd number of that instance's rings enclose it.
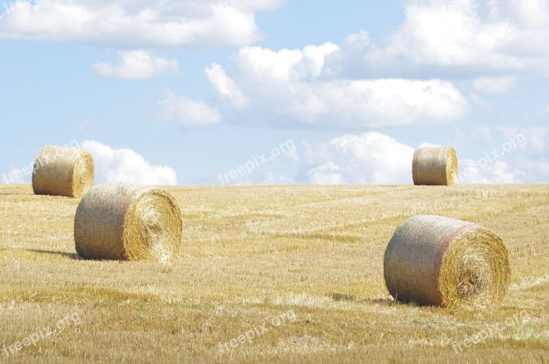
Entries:
{"label": "nearest round hay bale with reddish rim, at lower right", "polygon": [[502,239],[475,223],[434,215],[404,222],[385,252],[387,289],[397,300],[489,306],[505,295],[511,267]]}

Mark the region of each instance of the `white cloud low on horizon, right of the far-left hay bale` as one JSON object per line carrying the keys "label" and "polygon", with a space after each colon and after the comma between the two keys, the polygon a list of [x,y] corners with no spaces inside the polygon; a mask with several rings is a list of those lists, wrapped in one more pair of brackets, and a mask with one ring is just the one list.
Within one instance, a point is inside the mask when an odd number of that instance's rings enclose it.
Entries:
{"label": "white cloud low on horizon, right of the far-left hay bale", "polygon": [[83,141],[82,149],[93,156],[96,182],[127,182],[152,186],[177,184],[174,169],[151,165],[132,149],[113,149],[97,141]]}

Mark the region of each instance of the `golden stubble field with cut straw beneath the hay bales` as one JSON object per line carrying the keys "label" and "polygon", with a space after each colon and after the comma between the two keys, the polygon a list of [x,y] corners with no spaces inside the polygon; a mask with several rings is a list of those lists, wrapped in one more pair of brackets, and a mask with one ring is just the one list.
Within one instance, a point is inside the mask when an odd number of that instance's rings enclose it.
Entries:
{"label": "golden stubble field with cut straw beneath the hay bales", "polygon": [[[169,264],[82,259],[79,199],[0,185],[0,362],[548,362],[549,184],[163,189],[183,213]],[[386,246],[421,214],[503,239],[500,305],[390,297]]]}

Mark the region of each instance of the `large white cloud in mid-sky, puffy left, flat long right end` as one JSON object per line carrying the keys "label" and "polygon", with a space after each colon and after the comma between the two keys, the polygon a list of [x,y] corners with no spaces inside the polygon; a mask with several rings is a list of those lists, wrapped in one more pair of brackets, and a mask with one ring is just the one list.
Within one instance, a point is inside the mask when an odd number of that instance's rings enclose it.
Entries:
{"label": "large white cloud in mid-sky, puffy left, flat long right end", "polygon": [[347,80],[327,67],[338,45],[272,51],[242,47],[230,73],[206,69],[220,100],[235,108],[234,121],[315,128],[431,125],[467,114],[467,100],[444,80]]}

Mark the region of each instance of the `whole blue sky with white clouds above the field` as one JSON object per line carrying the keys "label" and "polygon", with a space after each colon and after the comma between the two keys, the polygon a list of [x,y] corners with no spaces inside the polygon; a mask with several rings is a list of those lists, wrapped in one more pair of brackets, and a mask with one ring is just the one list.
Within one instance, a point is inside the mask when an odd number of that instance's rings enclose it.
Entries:
{"label": "whole blue sky with white clouds above the field", "polygon": [[[0,183],[549,182],[549,1],[36,0],[0,8]],[[27,167],[27,168],[25,168]]]}

